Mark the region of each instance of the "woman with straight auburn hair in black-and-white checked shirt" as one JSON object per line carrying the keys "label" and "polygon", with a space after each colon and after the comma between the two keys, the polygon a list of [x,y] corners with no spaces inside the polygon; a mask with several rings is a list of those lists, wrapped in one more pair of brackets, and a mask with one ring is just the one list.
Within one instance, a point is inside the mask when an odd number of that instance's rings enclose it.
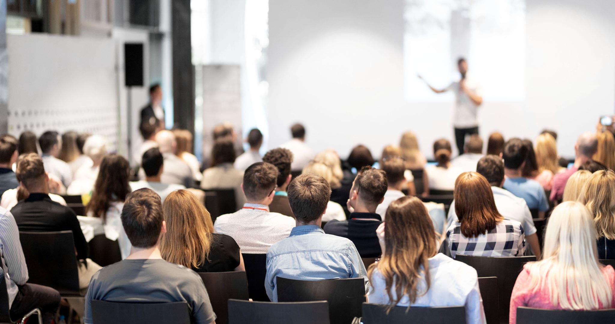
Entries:
{"label": "woman with straight auburn hair in black-and-white checked shirt", "polygon": [[[506,149],[504,150],[506,151]],[[496,207],[491,186],[477,172],[464,172],[455,182],[455,214],[446,231],[451,256],[522,256],[520,222],[505,219]]]}

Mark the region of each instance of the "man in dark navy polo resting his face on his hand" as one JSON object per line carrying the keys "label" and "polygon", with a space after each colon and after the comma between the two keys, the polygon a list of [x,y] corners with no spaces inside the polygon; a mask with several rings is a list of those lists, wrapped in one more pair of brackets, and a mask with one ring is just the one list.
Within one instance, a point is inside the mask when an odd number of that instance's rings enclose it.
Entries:
{"label": "man in dark navy polo resting his face on his hand", "polygon": [[376,229],[382,219],[376,214],[376,208],[383,202],[388,186],[384,171],[364,166],[354,179],[347,201],[350,219],[327,222],[325,233],[349,238],[361,257],[379,257],[382,251]]}

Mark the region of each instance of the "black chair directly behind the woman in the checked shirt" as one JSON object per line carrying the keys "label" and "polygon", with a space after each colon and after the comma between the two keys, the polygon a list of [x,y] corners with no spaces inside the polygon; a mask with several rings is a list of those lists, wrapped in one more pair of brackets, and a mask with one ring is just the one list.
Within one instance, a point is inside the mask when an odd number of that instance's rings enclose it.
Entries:
{"label": "black chair directly behind the woman in the checked shirt", "polygon": [[536,257],[488,257],[457,254],[455,259],[474,267],[478,277],[498,277],[499,318],[500,322],[507,322],[510,311],[510,295],[517,276],[523,269],[523,265],[530,261],[536,261]]}

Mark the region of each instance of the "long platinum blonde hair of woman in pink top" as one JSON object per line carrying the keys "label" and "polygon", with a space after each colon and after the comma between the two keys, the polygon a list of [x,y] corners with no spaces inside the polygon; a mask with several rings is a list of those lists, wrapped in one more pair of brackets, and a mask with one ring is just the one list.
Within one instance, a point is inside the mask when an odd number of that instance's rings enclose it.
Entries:
{"label": "long platinum blonde hair of woman in pink top", "polygon": [[571,310],[611,305],[613,291],[598,263],[592,215],[581,203],[566,201],[553,210],[542,257],[525,269],[534,292],[549,290],[551,304]]}

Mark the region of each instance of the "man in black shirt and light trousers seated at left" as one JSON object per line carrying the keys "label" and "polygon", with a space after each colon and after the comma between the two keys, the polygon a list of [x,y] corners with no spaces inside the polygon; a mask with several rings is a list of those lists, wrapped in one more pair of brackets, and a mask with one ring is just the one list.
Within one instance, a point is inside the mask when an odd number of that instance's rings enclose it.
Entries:
{"label": "man in black shirt and light trousers seated at left", "polygon": [[41,157],[34,153],[20,156],[15,173],[19,184],[29,193],[28,198],[20,200],[11,209],[17,227],[23,232],[73,231],[77,260],[84,260],[77,262],[79,288],[86,288],[90,278],[100,266],[87,259],[87,242],[73,209],[49,198],[49,177]]}

